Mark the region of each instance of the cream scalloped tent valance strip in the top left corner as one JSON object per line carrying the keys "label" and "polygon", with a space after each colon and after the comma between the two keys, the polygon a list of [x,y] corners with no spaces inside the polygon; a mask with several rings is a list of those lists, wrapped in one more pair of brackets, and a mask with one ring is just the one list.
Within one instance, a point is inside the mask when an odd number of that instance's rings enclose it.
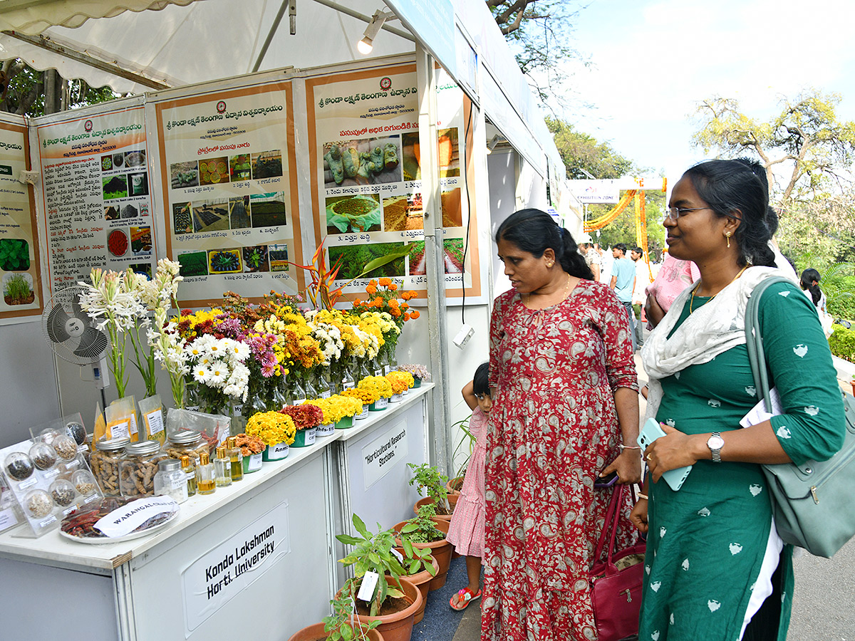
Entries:
{"label": "cream scalloped tent valance strip in the top left corner", "polygon": [[[0,31],[36,35],[49,26],[74,29],[90,18],[112,18],[125,11],[160,10],[169,4],[190,4],[198,0],[5,0],[0,4]],[[23,6],[22,6],[23,5]]]}

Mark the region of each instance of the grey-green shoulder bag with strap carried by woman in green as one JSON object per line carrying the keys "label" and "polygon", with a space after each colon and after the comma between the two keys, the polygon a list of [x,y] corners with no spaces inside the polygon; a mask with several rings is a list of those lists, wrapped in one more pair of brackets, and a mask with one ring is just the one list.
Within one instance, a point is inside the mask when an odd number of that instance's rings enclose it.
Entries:
{"label": "grey-green shoulder bag with strap carried by woman in green", "polygon": [[[746,307],[746,347],[754,386],[762,392],[769,412],[772,403],[763,337],[754,328],[758,326],[760,297],[769,285],[778,282],[792,284],[781,276],[771,276],[754,288]],[[772,497],[775,528],[784,543],[827,558],[855,536],[855,397],[840,393],[846,407],[846,432],[840,451],[828,461],[762,466]]]}

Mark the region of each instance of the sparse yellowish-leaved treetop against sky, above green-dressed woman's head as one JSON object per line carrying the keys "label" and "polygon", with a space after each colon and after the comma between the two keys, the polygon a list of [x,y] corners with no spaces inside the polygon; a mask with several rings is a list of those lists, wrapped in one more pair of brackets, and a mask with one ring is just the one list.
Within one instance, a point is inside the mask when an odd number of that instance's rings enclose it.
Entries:
{"label": "sparse yellowish-leaved treetop against sky, above green-dressed woman's head", "polygon": [[[840,191],[849,184],[855,161],[855,122],[840,121],[840,96],[804,91],[781,98],[781,110],[761,121],[740,109],[733,98],[712,97],[698,107],[694,142],[721,156],[754,156],[763,162],[771,199],[786,216],[793,201]],[[778,177],[781,177],[779,181]]]}

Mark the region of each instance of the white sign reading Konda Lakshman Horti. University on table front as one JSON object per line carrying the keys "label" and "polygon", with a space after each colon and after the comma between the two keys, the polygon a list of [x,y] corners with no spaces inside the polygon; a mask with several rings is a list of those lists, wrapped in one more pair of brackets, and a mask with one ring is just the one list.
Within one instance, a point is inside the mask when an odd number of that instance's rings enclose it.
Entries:
{"label": "white sign reading Konda Lakshman Horti. University on table front", "polygon": [[288,502],[283,501],[185,567],[186,637],[290,551]]}

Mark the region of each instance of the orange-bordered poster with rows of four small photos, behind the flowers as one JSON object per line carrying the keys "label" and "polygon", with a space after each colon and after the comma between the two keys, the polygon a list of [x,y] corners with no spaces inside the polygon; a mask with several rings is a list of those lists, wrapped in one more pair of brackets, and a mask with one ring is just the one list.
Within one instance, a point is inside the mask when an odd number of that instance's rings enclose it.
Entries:
{"label": "orange-bordered poster with rows of four small photos, behind the flowers", "polygon": [[[197,89],[197,91],[200,91]],[[168,256],[180,303],[236,291],[296,293],[304,276],[292,85],[274,82],[157,102]]]}

